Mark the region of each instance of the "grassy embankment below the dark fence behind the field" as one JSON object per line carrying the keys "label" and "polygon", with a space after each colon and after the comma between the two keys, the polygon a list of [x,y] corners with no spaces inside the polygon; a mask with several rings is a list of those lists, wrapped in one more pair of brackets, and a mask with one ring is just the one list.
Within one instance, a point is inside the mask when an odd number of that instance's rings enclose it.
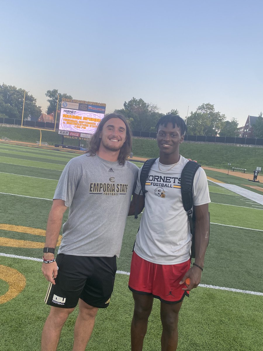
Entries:
{"label": "grassy embankment below the dark fence behind the field", "polygon": [[[39,140],[39,130],[0,126],[0,137],[11,140],[35,143]],[[42,141],[49,145],[60,144],[61,136],[56,132],[42,131]],[[64,139],[64,144],[78,145],[79,140]],[[152,139],[133,139],[133,153],[139,157],[158,157],[157,143]],[[228,169],[232,167],[245,168],[246,173],[252,173],[256,167],[263,166],[263,147],[246,147],[225,145],[219,143],[184,142],[180,153],[187,158],[197,160],[201,165],[214,168]]]}

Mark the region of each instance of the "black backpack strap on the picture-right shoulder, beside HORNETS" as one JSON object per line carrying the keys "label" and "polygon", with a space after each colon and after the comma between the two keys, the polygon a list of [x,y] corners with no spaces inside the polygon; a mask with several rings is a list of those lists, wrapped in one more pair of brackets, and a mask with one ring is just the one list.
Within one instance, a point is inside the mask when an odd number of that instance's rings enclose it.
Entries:
{"label": "black backpack strap on the picture-right shoulder, beside HORNETS", "polygon": [[189,161],[184,166],[181,174],[181,193],[184,210],[187,212],[190,231],[192,236],[194,236],[194,225],[193,225],[193,183],[195,173],[201,165],[194,161]]}

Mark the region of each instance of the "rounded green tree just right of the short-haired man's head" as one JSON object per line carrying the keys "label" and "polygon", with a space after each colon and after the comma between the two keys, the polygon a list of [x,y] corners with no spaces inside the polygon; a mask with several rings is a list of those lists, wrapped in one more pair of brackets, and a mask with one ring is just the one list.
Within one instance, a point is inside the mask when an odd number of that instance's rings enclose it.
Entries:
{"label": "rounded green tree just right of the short-haired man's head", "polygon": [[187,133],[192,135],[217,135],[225,119],[224,114],[215,111],[214,105],[202,104],[188,116]]}

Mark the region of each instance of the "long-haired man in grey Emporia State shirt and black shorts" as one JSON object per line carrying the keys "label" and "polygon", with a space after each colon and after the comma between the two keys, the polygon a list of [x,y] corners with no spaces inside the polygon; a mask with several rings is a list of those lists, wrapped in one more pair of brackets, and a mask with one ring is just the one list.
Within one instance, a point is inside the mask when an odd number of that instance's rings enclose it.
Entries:
{"label": "long-haired man in grey Emporia State shirt and black shorts", "polygon": [[130,151],[129,125],[122,115],[112,113],[100,121],[89,151],[70,160],[61,174],[43,250],[42,272],[50,282],[45,302],[51,308],[43,327],[42,351],[56,350],[61,329],[77,304],[73,351],[84,351],[98,309],[109,305],[138,173],[138,167],[127,161]]}

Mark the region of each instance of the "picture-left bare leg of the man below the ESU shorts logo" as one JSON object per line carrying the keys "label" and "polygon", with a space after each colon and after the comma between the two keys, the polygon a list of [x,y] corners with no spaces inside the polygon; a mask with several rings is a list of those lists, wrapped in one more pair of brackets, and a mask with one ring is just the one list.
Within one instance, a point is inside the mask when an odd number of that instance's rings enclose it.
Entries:
{"label": "picture-left bare leg of the man below the ESU shorts logo", "polygon": [[50,313],[44,324],[41,339],[41,351],[55,351],[61,333],[61,329],[66,322],[69,314],[74,308],[60,308],[51,306]]}

